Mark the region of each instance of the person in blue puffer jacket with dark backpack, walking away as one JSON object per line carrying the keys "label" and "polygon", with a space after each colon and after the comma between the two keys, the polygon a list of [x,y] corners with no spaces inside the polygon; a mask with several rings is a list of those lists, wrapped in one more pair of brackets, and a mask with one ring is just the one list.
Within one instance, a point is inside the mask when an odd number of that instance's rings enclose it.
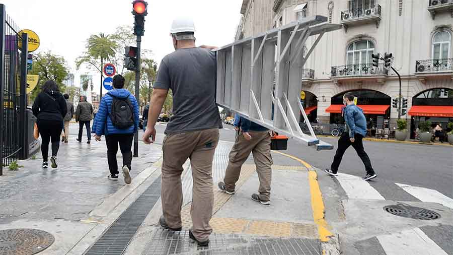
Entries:
{"label": "person in blue puffer jacket with dark backpack, walking away", "polygon": [[93,133],[96,134],[96,141],[101,141],[101,136],[105,136],[110,170],[108,178],[110,180],[118,180],[116,154],[119,144],[123,156],[124,182],[130,184],[132,181],[130,177],[132,141],[138,129],[138,103],[134,95],[123,87],[124,77],[115,75],[113,77],[113,90],[103,96],[99,104]]}

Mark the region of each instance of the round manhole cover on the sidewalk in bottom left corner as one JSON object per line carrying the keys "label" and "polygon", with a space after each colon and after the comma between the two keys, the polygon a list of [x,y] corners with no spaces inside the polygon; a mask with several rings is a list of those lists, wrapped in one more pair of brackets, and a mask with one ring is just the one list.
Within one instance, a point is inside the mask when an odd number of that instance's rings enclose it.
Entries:
{"label": "round manhole cover on the sidewalk in bottom left corner", "polygon": [[46,249],[53,241],[53,235],[39,229],[0,230],[0,254],[32,255]]}

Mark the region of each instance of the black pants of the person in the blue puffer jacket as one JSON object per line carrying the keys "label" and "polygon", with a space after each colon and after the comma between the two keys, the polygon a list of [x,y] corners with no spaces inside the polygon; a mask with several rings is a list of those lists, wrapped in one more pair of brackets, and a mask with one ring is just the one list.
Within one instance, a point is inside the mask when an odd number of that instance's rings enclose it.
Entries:
{"label": "black pants of the person in the blue puffer jacket", "polygon": [[107,161],[109,162],[110,173],[118,174],[118,162],[116,161],[116,153],[118,152],[118,144],[120,147],[121,154],[123,154],[123,166],[127,166],[131,169],[130,164],[132,163],[132,141],[134,134],[116,134],[105,137],[105,143],[107,145]]}

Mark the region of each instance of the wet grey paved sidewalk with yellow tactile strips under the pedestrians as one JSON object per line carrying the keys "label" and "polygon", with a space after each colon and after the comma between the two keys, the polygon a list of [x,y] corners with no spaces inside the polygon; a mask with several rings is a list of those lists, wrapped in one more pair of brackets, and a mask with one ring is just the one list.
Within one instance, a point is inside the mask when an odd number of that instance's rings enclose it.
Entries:
{"label": "wet grey paved sidewalk with yellow tactile strips under the pedestrians", "polygon": [[210,222],[214,230],[207,248],[197,247],[188,238],[192,224],[189,162],[182,175],[183,231],[162,230],[157,224],[162,215],[162,149],[141,142],[140,157],[132,163],[131,185],[124,185],[121,177],[118,182],[106,178],[104,142],[62,144],[56,170],[42,170],[39,158],[20,161],[24,168],[0,177],[0,231],[47,231],[37,239],[43,241],[43,248],[50,246],[39,254],[335,254],[329,248],[336,249],[333,240],[321,242],[331,239],[331,233],[324,208],[318,207],[322,198],[316,172],[272,153],[271,205],[262,206],[250,198],[259,185],[252,157],[242,168],[235,195],[217,189],[232,146],[220,142],[214,157]]}

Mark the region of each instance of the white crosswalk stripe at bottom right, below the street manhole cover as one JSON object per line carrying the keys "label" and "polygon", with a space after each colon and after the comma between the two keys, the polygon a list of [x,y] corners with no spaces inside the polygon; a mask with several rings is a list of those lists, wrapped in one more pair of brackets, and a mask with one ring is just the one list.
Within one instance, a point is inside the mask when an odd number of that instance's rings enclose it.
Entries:
{"label": "white crosswalk stripe at bottom right, below the street manhole cover", "polygon": [[419,228],[377,237],[387,255],[447,255]]}

